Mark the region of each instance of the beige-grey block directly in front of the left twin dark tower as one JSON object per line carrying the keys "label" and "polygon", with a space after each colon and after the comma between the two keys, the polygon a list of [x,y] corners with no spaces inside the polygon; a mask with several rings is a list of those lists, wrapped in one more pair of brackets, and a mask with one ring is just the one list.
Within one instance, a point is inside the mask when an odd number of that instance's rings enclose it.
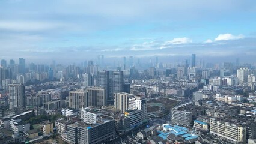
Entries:
{"label": "beige-grey block directly in front of the left twin dark tower", "polygon": [[87,88],[88,106],[102,107],[106,106],[106,89]]}

